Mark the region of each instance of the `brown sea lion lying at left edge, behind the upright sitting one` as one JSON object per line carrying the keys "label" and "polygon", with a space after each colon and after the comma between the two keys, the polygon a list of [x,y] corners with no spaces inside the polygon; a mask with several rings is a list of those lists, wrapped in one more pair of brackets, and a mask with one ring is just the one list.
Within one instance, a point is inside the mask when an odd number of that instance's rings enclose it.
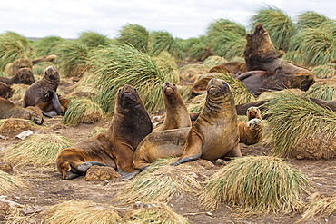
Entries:
{"label": "brown sea lion lying at left edge, behind the upright sitting one", "polygon": [[0,76],[0,82],[7,85],[17,84],[33,84],[35,82],[34,74],[30,68],[20,68],[15,76],[11,78]]}

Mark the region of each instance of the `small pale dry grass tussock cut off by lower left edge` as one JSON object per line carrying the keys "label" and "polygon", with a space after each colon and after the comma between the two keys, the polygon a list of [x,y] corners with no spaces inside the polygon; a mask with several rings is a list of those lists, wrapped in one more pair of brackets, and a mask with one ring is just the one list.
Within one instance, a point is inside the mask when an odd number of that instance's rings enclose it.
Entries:
{"label": "small pale dry grass tussock cut off by lower left edge", "polygon": [[22,189],[25,183],[17,177],[0,170],[0,194]]}

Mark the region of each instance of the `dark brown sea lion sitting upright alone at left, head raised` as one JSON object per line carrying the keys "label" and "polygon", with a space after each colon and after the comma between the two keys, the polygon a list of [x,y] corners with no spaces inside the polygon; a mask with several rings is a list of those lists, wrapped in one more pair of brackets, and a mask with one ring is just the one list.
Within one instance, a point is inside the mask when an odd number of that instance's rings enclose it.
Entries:
{"label": "dark brown sea lion sitting upright alone at left, head raised", "polygon": [[64,115],[69,100],[59,99],[56,94],[60,75],[54,66],[44,69],[42,79],[36,81],[25,91],[23,107],[36,106],[46,115]]}

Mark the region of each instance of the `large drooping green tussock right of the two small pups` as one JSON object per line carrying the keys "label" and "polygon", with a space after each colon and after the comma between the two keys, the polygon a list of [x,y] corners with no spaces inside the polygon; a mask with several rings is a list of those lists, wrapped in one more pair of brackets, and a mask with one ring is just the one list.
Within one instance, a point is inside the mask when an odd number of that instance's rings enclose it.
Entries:
{"label": "large drooping green tussock right of the two small pups", "polygon": [[308,136],[323,132],[328,141],[336,133],[335,112],[292,92],[273,94],[263,112],[271,127],[268,136],[272,139],[272,155],[288,157],[293,147]]}

